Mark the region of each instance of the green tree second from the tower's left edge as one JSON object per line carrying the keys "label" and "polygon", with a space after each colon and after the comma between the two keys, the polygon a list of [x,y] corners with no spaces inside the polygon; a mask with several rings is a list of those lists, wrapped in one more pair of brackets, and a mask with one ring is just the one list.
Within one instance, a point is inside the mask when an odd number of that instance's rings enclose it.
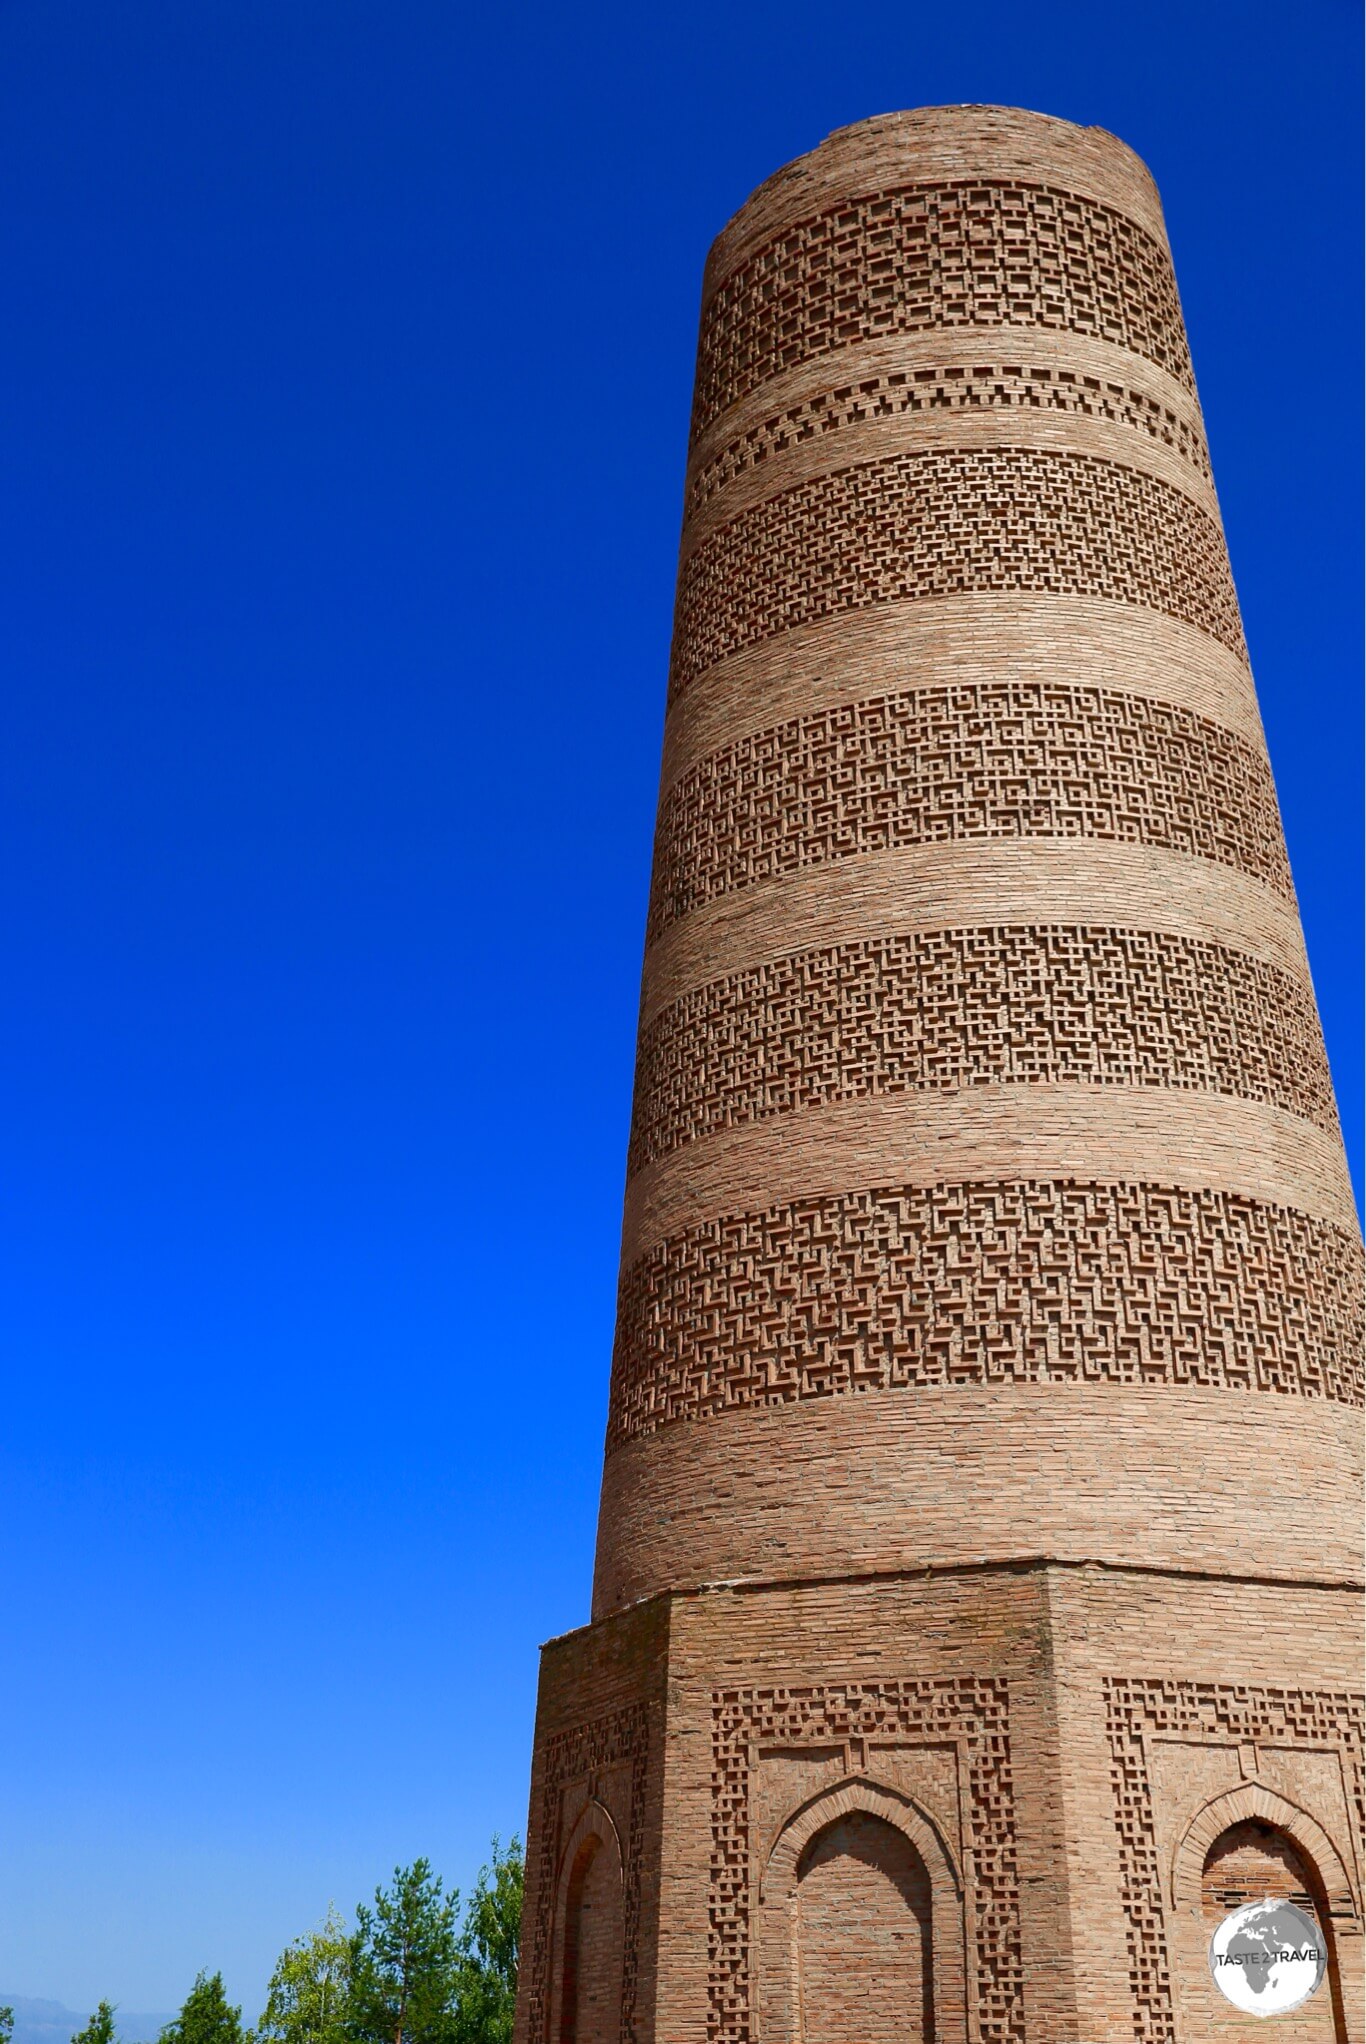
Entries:
{"label": "green tree second from the tower's left edge", "polygon": [[360,1905],[350,1995],[356,2044],[452,2044],[458,1903],[442,1895],[427,1860],[413,1860],[395,1866],[389,1891],[374,1891],[374,1909]]}

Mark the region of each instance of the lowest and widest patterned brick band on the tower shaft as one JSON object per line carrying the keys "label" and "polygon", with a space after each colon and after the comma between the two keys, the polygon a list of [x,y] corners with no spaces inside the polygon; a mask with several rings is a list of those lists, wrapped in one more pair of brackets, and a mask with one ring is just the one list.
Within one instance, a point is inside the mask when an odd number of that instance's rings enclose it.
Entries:
{"label": "lowest and widest patterned brick band on the tower shaft", "polygon": [[1346,1228],[1225,1192],[902,1186],[699,1222],[622,1273],[607,1445],[918,1384],[1180,1384],[1362,1402]]}

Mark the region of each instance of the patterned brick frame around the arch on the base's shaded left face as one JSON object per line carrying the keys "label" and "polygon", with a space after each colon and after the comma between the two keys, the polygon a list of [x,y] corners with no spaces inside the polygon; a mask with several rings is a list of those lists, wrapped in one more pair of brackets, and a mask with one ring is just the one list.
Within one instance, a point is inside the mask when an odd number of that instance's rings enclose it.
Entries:
{"label": "patterned brick frame around the arch on the base's shaded left face", "polygon": [[[542,1746],[540,1850],[536,1858],[536,1921],[526,1938],[523,1977],[528,2044],[550,2044],[550,1966],[554,1962],[554,1905],[560,1852],[566,1840],[564,1791],[591,1782],[595,1774],[630,1764],[630,1819],[624,1840],[624,1950],[622,1950],[622,2044],[636,2038],[636,1975],[640,1962],[640,1872],[644,1860],[646,1764],[650,1756],[650,1715],[630,1703],[568,1731],[556,1731]],[[613,1813],[616,1815],[616,1813]],[[577,1821],[577,1811],[575,1811]]]}

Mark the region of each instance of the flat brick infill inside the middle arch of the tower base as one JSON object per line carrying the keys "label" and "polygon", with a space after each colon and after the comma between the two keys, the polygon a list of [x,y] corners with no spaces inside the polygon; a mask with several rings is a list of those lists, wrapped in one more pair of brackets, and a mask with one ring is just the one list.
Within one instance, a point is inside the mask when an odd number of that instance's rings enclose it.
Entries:
{"label": "flat brick infill inside the middle arch of the tower base", "polygon": [[928,2044],[930,1878],[904,1831],[849,1811],[798,1862],[802,2044]]}

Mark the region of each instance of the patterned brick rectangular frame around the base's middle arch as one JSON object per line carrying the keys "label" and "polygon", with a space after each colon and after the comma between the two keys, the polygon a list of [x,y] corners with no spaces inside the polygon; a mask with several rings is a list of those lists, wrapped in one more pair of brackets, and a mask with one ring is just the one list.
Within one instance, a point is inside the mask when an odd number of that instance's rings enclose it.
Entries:
{"label": "patterned brick rectangular frame around the base's middle arch", "polygon": [[812,1688],[726,1688],[712,1697],[712,1887],[708,2044],[755,2034],[750,1752],[757,1744],[957,1739],[967,1760],[965,1905],[982,2044],[1022,2044],[1024,1966],[1006,1682],[941,1676]]}

